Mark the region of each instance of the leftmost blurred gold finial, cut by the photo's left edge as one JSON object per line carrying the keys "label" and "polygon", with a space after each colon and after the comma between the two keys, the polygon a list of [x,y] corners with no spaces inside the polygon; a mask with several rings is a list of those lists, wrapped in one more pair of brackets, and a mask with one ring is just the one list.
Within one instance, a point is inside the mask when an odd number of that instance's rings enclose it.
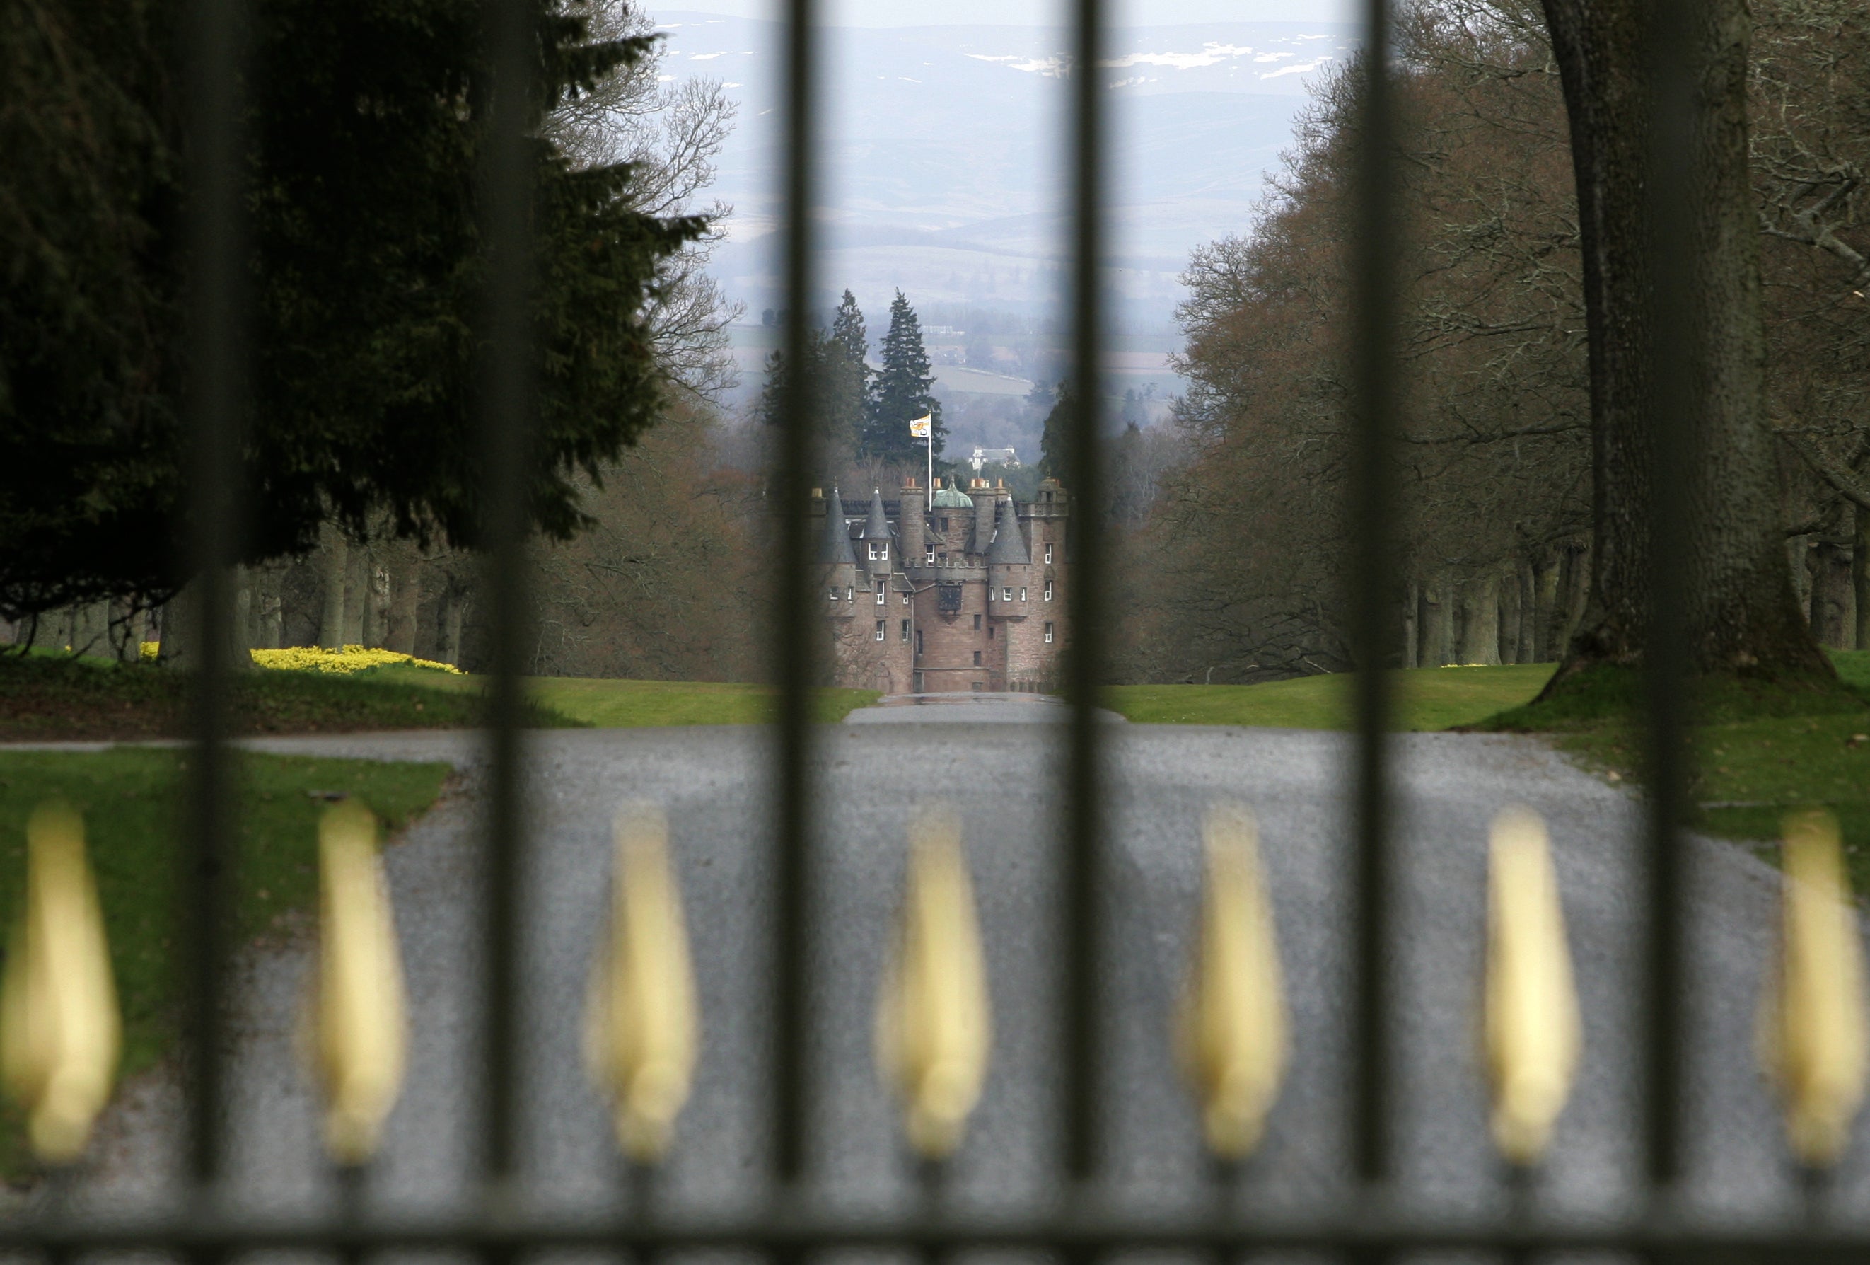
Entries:
{"label": "leftmost blurred gold finial, cut by the photo's left edge", "polygon": [[32,1151],[47,1164],[84,1153],[110,1100],[122,1037],[84,818],[43,803],[26,820],[26,919],[6,958],[0,1074],[26,1108]]}

